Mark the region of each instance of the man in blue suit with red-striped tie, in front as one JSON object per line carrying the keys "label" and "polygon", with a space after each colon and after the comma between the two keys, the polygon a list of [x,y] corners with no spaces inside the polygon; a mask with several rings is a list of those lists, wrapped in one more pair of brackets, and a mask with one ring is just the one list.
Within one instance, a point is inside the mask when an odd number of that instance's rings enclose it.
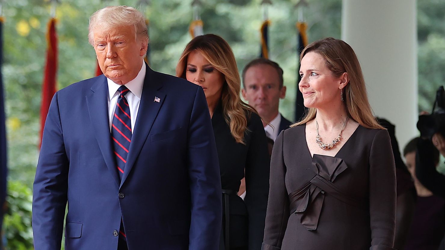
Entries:
{"label": "man in blue suit with red-striped tie, in front", "polygon": [[104,75],[58,91],[32,202],[36,250],[217,250],[221,182],[202,88],[144,63],[145,19],[103,8],[89,24]]}

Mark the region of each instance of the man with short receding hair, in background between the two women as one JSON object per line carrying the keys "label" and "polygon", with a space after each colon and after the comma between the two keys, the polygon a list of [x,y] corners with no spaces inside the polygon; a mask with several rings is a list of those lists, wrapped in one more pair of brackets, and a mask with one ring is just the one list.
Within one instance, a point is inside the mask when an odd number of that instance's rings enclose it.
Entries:
{"label": "man with short receding hair, in background between the two women", "polygon": [[278,111],[279,99],[286,96],[283,69],[274,61],[258,58],[247,63],[242,76],[244,99],[258,111],[267,137],[275,141],[292,124]]}

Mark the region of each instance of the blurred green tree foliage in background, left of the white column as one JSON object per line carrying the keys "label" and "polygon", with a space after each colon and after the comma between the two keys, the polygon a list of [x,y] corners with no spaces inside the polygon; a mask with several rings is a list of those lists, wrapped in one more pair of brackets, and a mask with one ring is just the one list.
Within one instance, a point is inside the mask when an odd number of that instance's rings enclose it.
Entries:
{"label": "blurred green tree foliage in background, left of the white column", "polygon": [[[150,7],[137,6],[138,0],[62,0],[57,7],[59,64],[57,88],[94,76],[96,58],[88,44],[88,19],[105,5],[140,7],[150,19],[150,66],[174,74],[176,63],[190,41],[191,1],[151,1]],[[204,32],[223,36],[231,45],[239,71],[259,56],[259,28],[263,20],[260,0],[203,1],[201,18]],[[293,118],[296,82],[296,28],[298,17],[288,0],[274,0],[269,7],[270,57],[284,69],[287,98],[281,112]],[[41,84],[46,51],[49,4],[41,0],[7,1],[3,6],[4,83],[8,116],[10,178],[31,187],[38,157]],[[305,11],[309,40],[324,36],[340,37],[341,0],[312,0]]]}

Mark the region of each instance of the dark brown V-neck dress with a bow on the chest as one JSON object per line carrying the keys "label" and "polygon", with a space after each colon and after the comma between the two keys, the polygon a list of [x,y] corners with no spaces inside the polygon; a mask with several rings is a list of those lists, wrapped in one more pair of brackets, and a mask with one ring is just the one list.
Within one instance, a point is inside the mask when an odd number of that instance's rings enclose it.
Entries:
{"label": "dark brown V-neck dress with a bow on the chest", "polygon": [[388,132],[359,126],[335,157],[312,158],[305,127],[275,140],[262,249],[392,250],[396,175]]}

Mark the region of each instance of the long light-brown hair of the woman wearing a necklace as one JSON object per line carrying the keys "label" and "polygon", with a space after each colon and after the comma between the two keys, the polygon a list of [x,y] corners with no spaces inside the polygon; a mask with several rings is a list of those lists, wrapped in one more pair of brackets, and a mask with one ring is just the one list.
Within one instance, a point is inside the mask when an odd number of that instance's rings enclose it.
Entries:
{"label": "long light-brown hair of the woman wearing a necklace", "polygon": [[[384,129],[377,123],[369,105],[363,73],[356,53],[349,44],[342,40],[328,37],[309,44],[300,55],[300,63],[304,55],[315,52],[326,60],[326,65],[332,74],[340,77],[344,72],[348,73],[349,83],[344,87],[344,103],[348,116],[361,126],[366,128]],[[295,127],[305,124],[317,114],[316,108],[309,108],[304,118],[291,125]]]}

